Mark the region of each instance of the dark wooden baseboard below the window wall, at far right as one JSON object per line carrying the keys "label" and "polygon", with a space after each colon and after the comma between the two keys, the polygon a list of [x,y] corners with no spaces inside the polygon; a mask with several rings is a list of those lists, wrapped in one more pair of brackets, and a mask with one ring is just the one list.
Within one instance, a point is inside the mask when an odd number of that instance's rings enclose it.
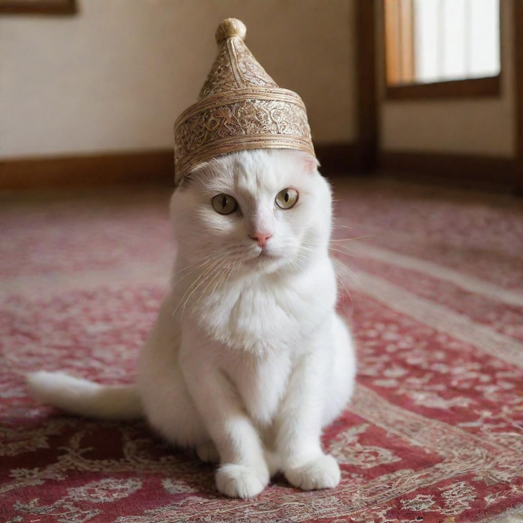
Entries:
{"label": "dark wooden baseboard below the window wall, at far right", "polygon": [[[434,152],[382,151],[380,170],[409,177],[424,175],[458,184],[485,183],[505,187],[523,186],[523,164],[517,158]],[[421,180],[420,180],[421,181]]]}

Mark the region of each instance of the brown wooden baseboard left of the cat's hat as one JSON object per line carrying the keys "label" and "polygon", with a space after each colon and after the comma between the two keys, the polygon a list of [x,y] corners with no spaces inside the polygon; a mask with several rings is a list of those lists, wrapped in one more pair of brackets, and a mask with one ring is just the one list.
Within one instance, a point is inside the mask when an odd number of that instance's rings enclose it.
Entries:
{"label": "brown wooden baseboard left of the cat's hat", "polygon": [[0,189],[154,182],[173,185],[172,149],[0,160]]}

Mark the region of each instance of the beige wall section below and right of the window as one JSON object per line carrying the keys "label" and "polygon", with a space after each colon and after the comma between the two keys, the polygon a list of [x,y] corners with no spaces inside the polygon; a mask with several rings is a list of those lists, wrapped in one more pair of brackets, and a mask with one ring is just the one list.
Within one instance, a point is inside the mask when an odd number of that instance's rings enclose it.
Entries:
{"label": "beige wall section below and right of the window", "polygon": [[[514,6],[513,0],[501,1],[501,97],[426,101],[383,100],[380,107],[380,143],[383,150],[515,155]],[[381,18],[382,13],[378,11]],[[383,27],[381,19],[378,24],[378,27]],[[378,38],[381,36],[381,31],[378,31]],[[382,49],[381,41],[378,48]],[[380,56],[380,69],[382,62]],[[380,71],[380,87],[383,77],[383,71]]]}

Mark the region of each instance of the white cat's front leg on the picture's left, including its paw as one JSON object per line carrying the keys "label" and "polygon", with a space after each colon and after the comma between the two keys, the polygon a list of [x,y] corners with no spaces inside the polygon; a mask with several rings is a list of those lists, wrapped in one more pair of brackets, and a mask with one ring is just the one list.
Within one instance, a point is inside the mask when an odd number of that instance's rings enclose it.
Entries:
{"label": "white cat's front leg on the picture's left, including its paw", "polygon": [[259,435],[231,381],[204,347],[180,353],[189,392],[220,455],[218,490],[229,497],[251,498],[269,483]]}

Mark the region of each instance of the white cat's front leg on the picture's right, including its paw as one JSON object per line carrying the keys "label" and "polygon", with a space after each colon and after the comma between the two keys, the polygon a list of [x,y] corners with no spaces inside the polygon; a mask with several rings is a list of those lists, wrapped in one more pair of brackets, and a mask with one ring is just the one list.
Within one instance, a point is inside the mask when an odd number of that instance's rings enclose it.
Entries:
{"label": "white cat's front leg on the picture's right, including its paw", "polygon": [[338,463],[323,452],[320,441],[326,359],[321,349],[301,357],[278,413],[276,448],[282,472],[303,490],[333,488],[340,480]]}

